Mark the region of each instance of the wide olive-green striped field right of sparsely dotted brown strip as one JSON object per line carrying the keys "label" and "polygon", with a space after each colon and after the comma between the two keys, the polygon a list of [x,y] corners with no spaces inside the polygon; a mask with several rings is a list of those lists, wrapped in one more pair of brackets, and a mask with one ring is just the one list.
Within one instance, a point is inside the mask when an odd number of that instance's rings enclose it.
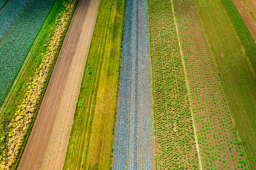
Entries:
{"label": "wide olive-green striped field right of sparsely dotted brown strip", "polygon": [[[196,0],[196,4],[212,57],[225,90],[227,104],[230,107],[239,136],[242,138],[242,146],[245,149],[248,164],[250,168],[255,169],[255,72],[221,1]],[[235,150],[239,149],[235,148]]]}

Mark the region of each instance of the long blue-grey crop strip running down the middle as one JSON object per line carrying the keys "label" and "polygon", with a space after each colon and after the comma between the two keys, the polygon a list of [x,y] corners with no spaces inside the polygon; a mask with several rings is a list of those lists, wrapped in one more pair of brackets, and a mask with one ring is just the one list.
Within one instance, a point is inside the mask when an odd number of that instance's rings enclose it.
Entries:
{"label": "long blue-grey crop strip running down the middle", "polygon": [[113,169],[153,169],[153,113],[146,0],[126,0]]}

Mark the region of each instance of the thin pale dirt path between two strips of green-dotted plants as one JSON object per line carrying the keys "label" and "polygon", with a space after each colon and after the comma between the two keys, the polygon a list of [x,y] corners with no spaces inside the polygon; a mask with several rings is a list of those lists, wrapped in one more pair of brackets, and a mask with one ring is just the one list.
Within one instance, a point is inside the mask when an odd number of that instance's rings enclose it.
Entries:
{"label": "thin pale dirt path between two strips of green-dotted plants", "polygon": [[[178,30],[178,26],[177,26],[177,22],[176,22],[176,17],[175,17],[175,11],[174,11],[174,5],[173,5],[173,0],[170,0],[170,3],[172,5],[172,11],[173,11],[173,16],[174,16],[174,21],[175,21],[175,27],[176,27],[176,31],[177,31],[177,35],[178,35],[178,41],[179,41],[179,46],[180,46],[180,54],[181,54],[181,60],[182,60],[182,64],[183,64],[183,70],[184,70],[184,74],[185,74],[185,80],[186,80],[186,87],[187,87],[187,94],[188,94],[188,98],[190,96],[189,93],[189,88],[188,88],[188,82],[187,82],[187,74],[185,71],[185,64],[184,64],[184,59],[183,59],[183,53],[181,50],[181,43],[180,43],[180,36],[179,36],[179,30]],[[201,163],[201,158],[200,158],[200,154],[199,154],[199,148],[198,148],[198,143],[197,143],[197,133],[196,133],[196,127],[195,127],[195,120],[194,120],[194,114],[192,111],[192,106],[191,106],[191,101],[189,100],[189,106],[190,106],[190,111],[191,111],[191,118],[192,118],[192,122],[193,122],[193,129],[194,129],[194,136],[195,136],[195,141],[196,141],[196,148],[197,148],[197,153],[198,153],[198,161],[199,161],[199,168],[200,170],[203,170],[202,168],[202,163]]]}

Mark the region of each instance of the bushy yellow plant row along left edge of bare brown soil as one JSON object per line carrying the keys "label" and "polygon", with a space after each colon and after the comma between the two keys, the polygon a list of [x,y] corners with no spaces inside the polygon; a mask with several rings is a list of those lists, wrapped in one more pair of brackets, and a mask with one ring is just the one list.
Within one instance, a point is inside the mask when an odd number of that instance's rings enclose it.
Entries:
{"label": "bushy yellow plant row along left edge of bare brown soil", "polygon": [[[46,48],[40,54],[42,61],[35,72],[35,76],[31,79],[32,81],[29,83],[29,86],[25,89],[26,94],[23,96],[22,104],[17,106],[18,110],[15,112],[15,118],[11,120],[8,126],[9,135],[7,138],[1,138],[1,142],[4,139],[8,142],[8,153],[0,156],[1,169],[12,169],[16,163],[75,3],[76,1],[74,0],[70,0],[70,4],[65,3],[65,9],[59,13],[61,17],[55,20],[58,24],[52,27],[53,32],[50,33],[52,37],[44,45]],[[7,154],[8,157],[6,159],[5,156]]]}

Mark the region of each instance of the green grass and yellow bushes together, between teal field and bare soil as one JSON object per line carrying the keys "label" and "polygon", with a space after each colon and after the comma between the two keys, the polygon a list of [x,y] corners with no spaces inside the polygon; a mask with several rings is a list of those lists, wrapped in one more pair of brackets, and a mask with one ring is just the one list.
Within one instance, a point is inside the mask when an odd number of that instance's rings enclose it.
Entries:
{"label": "green grass and yellow bushes together, between teal field and bare soil", "polygon": [[[1,129],[2,169],[12,169],[17,166],[28,134],[32,128],[31,122],[34,122],[34,115],[36,115],[37,109],[39,108],[38,104],[40,103],[41,95],[44,94],[44,88],[50,75],[49,72],[53,68],[52,65],[56,59],[61,38],[67,29],[68,18],[74,9],[70,8],[72,4],[69,1],[57,1],[55,5],[57,7],[54,6],[52,8],[44,26],[41,28],[31,47],[24,66],[20,70],[22,74],[17,77],[18,81],[15,82],[15,88],[11,90],[10,93],[12,94],[6,100],[8,102],[1,108],[1,114],[4,115],[5,120],[9,120],[7,127],[9,136],[7,138],[4,137],[4,130]],[[67,10],[68,8],[71,10],[69,14],[67,14],[67,11],[69,11]],[[62,14],[61,17],[59,17],[60,14]],[[6,126],[7,122],[5,121],[4,123]],[[2,126],[4,123],[1,121]],[[8,149],[2,150],[6,146],[6,142],[8,142]],[[7,155],[6,151],[8,151],[7,165],[2,161],[3,156]]]}

